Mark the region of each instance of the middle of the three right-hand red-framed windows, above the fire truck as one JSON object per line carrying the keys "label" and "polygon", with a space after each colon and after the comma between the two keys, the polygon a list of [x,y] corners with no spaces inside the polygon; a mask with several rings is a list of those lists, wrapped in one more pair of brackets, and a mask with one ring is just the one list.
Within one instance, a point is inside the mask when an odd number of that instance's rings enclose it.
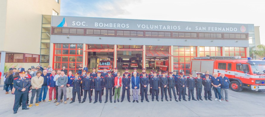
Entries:
{"label": "middle of the three right-hand red-framed windows, above the fire truck", "polygon": [[221,47],[200,47],[200,57],[204,57],[206,55],[209,56],[222,56],[222,48]]}

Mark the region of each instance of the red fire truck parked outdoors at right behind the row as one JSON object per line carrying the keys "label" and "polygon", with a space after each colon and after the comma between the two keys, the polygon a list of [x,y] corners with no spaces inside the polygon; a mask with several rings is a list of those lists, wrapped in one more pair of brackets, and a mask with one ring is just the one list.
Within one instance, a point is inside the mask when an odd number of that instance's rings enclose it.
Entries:
{"label": "red fire truck parked outdoors at right behind the row", "polygon": [[[240,58],[240,57],[239,57]],[[230,80],[230,89],[236,92],[242,89],[265,90],[265,58],[263,60],[238,59],[238,57],[195,57],[191,60],[191,71],[210,74],[224,73]],[[219,76],[218,75],[218,76]]]}

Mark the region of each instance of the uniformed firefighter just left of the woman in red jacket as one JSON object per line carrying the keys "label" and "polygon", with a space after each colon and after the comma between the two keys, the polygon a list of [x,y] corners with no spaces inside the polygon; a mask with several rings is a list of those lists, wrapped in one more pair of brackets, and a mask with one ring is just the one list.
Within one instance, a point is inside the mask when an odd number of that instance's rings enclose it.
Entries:
{"label": "uniformed firefighter just left of the woman in red jacket", "polygon": [[108,71],[108,75],[105,76],[105,79],[104,79],[104,88],[106,89],[106,101],[105,103],[108,102],[108,94],[110,92],[110,103],[112,103],[112,88],[114,86],[114,77],[111,74],[111,71]]}

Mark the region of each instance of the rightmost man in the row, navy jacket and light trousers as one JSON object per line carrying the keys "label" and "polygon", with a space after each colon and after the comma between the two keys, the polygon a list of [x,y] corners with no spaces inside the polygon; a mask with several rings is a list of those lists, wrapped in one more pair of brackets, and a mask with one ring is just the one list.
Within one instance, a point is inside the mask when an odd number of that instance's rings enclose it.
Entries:
{"label": "rightmost man in the row, navy jacket and light trousers", "polygon": [[221,85],[221,100],[224,100],[224,91],[225,91],[225,101],[228,101],[228,88],[230,81],[229,79],[225,76],[224,73],[221,73],[220,78],[222,79],[222,85]]}

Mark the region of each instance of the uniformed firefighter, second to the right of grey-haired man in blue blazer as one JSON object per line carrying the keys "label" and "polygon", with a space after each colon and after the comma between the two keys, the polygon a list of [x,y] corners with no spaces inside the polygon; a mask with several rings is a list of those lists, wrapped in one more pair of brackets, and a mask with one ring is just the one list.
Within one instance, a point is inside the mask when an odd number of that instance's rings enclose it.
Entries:
{"label": "uniformed firefighter, second to the right of grey-haired man in blue blazer", "polygon": [[150,88],[152,89],[152,101],[154,101],[154,98],[159,102],[158,100],[158,92],[160,89],[160,78],[156,76],[156,72],[153,72],[154,76],[151,76],[149,84]]}

